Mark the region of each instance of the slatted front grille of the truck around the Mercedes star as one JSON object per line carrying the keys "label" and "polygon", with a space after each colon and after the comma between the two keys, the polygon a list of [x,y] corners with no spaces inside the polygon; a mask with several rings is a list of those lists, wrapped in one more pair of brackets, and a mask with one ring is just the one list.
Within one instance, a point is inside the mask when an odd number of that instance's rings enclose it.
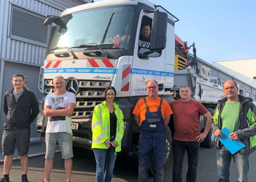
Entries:
{"label": "slatted front grille of the truck around the Mercedes star", "polygon": [[[76,106],[72,119],[89,118],[94,107],[105,100],[104,91],[110,86],[110,81],[77,80],[77,82]],[[45,79],[44,93],[50,94],[52,92],[55,92],[53,79]]]}

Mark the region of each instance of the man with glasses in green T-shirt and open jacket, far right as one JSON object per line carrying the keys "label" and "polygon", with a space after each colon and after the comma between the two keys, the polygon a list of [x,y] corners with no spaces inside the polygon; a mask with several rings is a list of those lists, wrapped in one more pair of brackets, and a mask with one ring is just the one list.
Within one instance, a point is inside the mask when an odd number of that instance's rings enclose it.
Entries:
{"label": "man with glasses in green T-shirt and open jacket, far right", "polygon": [[229,182],[229,167],[233,158],[237,168],[237,180],[247,182],[249,170],[249,155],[256,149],[256,107],[251,98],[238,95],[237,83],[227,80],[223,84],[226,98],[219,100],[214,113],[212,128],[215,136],[222,137],[221,129],[226,127],[231,131],[231,140],[241,140],[245,147],[231,154],[217,140],[216,156],[219,182]]}

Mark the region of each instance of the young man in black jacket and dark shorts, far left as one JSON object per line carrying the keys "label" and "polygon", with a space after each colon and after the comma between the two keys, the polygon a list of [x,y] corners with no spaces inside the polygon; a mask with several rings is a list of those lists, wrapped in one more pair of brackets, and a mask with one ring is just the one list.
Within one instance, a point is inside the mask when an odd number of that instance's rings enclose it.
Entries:
{"label": "young man in black jacket and dark shorts, far left", "polygon": [[30,123],[39,113],[37,98],[33,92],[23,88],[25,83],[22,74],[13,75],[14,88],[4,95],[4,133],[2,136],[2,152],[4,158],[4,176],[0,182],[9,182],[9,172],[13,163],[15,143],[18,155],[21,156],[22,182],[27,182],[28,147],[30,140]]}

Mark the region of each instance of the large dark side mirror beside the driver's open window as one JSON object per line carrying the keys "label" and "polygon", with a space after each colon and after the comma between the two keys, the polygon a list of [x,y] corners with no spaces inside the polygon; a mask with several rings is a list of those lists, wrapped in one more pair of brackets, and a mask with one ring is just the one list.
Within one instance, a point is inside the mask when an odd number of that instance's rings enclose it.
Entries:
{"label": "large dark side mirror beside the driver's open window", "polygon": [[166,47],[167,21],[167,13],[154,12],[149,45],[150,50],[163,50]]}

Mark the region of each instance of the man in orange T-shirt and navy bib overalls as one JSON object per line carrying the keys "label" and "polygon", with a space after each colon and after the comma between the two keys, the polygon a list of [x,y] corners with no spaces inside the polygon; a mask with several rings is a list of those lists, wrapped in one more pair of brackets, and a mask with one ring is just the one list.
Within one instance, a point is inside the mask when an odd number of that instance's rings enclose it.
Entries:
{"label": "man in orange T-shirt and navy bib overalls", "polygon": [[146,83],[148,96],[136,104],[133,114],[140,126],[139,140],[139,182],[148,180],[148,167],[153,152],[155,168],[154,181],[163,182],[165,158],[165,128],[170,122],[172,110],[166,100],[158,96],[158,84],[155,80]]}

